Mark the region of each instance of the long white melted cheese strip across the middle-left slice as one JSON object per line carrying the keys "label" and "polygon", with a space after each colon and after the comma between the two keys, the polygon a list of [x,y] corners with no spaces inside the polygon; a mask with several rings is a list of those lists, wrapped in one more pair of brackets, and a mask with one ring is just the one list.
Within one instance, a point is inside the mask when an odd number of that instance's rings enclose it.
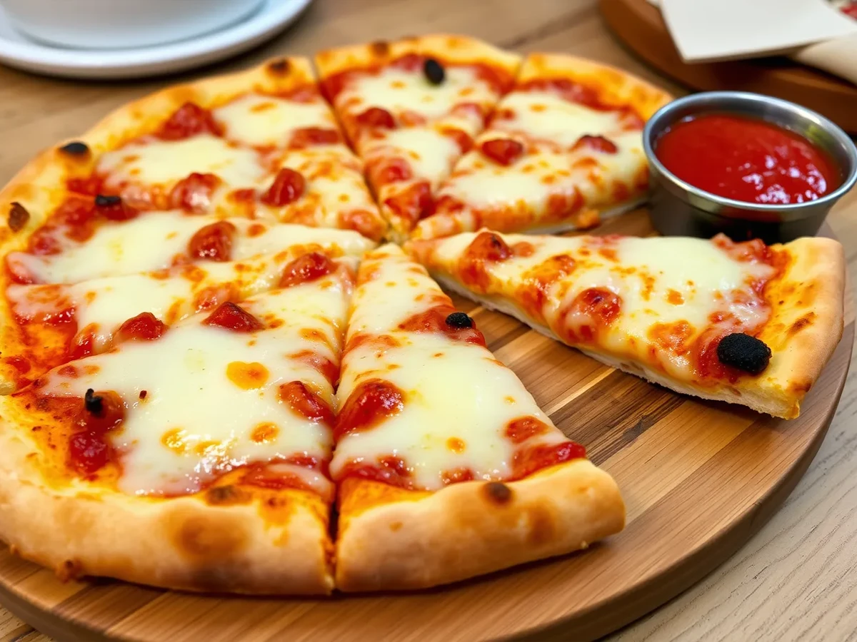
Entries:
{"label": "long white melted cheese strip across the middle-left slice", "polygon": [[[7,262],[19,265],[43,283],[74,283],[102,276],[161,270],[187,252],[188,242],[197,230],[218,220],[217,217],[188,216],[179,211],[146,212],[124,223],[105,223],[87,241],[69,244],[62,253],[47,256],[9,253]],[[247,259],[313,243],[339,248],[346,254],[359,254],[375,246],[357,232],[346,229],[261,224],[244,218],[225,220],[237,228],[232,259]]]}

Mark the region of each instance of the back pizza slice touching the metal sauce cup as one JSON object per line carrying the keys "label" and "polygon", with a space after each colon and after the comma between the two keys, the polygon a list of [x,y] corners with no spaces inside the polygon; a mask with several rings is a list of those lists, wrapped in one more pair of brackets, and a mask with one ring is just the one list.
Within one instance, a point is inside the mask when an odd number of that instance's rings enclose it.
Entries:
{"label": "back pizza slice touching the metal sauce cup", "polygon": [[641,203],[649,169],[644,122],[670,97],[619,69],[530,54],[488,129],[436,194],[416,238],[482,226],[557,232]]}

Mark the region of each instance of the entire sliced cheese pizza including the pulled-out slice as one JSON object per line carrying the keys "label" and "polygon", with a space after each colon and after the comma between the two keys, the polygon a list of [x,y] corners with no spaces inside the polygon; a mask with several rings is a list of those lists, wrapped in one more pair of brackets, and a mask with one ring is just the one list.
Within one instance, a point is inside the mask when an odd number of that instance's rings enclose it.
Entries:
{"label": "entire sliced cheese pizza including the pulled-out slice", "polygon": [[327,594],[619,532],[614,480],[438,282],[796,417],[842,335],[836,241],[547,235],[645,198],[668,100],[436,35],[173,86],[43,152],[0,193],[0,537],[63,578]]}

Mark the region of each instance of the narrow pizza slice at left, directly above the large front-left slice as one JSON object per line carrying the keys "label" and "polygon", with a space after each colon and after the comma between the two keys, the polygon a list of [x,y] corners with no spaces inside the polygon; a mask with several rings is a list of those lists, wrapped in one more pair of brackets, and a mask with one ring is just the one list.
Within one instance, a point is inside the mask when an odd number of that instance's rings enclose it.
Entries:
{"label": "narrow pizza slice at left, directly above the large front-left slice", "polygon": [[[10,321],[0,330],[0,394],[52,367],[99,354],[117,343],[161,335],[184,318],[279,287],[321,270],[336,251],[286,248],[243,261],[201,261],[168,270],[105,276],[70,284],[9,284]],[[340,259],[357,266],[357,259]]]}

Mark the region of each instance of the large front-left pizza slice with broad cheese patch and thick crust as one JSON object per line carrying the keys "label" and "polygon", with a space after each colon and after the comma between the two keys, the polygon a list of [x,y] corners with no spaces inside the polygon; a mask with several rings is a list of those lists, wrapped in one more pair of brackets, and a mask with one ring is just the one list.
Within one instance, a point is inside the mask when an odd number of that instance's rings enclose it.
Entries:
{"label": "large front-left pizza slice with broad cheese patch and thick crust", "polygon": [[3,540],[63,577],[331,591],[327,466],[353,274],[324,259],[281,285],[3,397]]}

